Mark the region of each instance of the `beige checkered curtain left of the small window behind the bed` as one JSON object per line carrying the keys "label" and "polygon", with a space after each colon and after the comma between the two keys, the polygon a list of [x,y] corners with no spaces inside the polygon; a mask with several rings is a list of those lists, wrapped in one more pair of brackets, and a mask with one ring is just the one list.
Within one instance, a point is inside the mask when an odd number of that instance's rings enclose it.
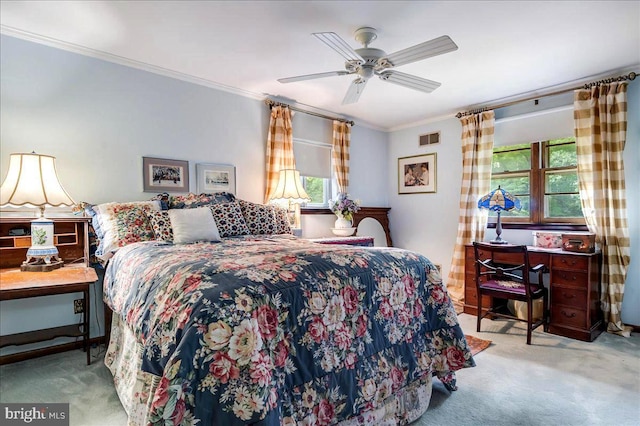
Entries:
{"label": "beige checkered curtain left of the small window behind the bed", "polygon": [[269,134],[267,135],[267,185],[264,202],[269,202],[278,185],[278,174],[283,169],[295,169],[293,156],[293,129],[288,106],[271,107]]}

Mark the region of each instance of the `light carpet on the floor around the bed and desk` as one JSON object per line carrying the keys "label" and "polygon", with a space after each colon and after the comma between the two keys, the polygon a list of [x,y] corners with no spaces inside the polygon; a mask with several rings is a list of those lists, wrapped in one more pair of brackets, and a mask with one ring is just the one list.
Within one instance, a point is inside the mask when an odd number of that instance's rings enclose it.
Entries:
{"label": "light carpet on the floor around the bed and desk", "polygon": [[[476,367],[457,373],[457,391],[434,379],[429,410],[413,426],[638,425],[639,334],[603,333],[589,343],[538,329],[527,345],[519,322],[483,320],[477,333],[474,316],[458,319],[465,333],[492,343]],[[90,366],[82,351],[0,366],[0,402],[43,401],[69,402],[71,426],[127,423],[102,354]]]}

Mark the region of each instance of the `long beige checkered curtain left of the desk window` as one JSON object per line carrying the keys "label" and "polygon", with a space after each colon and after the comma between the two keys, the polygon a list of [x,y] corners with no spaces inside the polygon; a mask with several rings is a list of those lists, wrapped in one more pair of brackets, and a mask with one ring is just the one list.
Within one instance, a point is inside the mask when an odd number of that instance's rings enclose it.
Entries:
{"label": "long beige checkered curtain left of the desk window", "polygon": [[460,218],[458,236],[451,260],[447,289],[462,310],[464,303],[465,245],[484,239],[488,213],[478,208],[478,200],[490,191],[491,159],[493,157],[493,111],[462,117],[462,186],[460,188]]}

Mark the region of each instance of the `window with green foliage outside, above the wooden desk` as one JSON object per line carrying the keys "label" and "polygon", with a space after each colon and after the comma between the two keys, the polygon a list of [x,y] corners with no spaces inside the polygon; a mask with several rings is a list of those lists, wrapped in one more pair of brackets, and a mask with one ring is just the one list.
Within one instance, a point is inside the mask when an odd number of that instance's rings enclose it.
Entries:
{"label": "window with green foliage outside, above the wooden desk", "polygon": [[522,204],[521,210],[501,213],[504,222],[585,223],[573,137],[494,148],[491,189],[498,185]]}

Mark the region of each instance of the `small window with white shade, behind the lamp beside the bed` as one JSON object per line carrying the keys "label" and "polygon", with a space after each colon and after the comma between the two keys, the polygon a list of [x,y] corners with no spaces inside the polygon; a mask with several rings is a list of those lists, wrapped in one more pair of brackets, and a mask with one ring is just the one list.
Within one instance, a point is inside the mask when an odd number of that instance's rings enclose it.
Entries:
{"label": "small window with white shade, behind the lamp beside the bed", "polygon": [[331,145],[293,139],[293,154],[302,186],[311,197],[305,207],[328,207],[331,198]]}

